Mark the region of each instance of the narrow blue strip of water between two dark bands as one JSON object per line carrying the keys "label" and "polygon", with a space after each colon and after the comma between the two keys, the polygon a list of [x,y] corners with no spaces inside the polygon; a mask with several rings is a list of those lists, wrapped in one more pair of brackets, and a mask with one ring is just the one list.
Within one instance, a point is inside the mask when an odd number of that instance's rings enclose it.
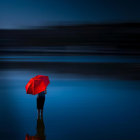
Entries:
{"label": "narrow blue strip of water between two dark bands", "polygon": [[10,62],[140,63],[139,56],[0,56]]}

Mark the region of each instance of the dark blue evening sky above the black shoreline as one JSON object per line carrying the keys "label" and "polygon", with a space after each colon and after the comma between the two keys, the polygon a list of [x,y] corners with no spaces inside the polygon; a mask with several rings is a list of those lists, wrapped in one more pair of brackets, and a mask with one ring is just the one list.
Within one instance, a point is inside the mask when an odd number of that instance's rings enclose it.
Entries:
{"label": "dark blue evening sky above the black shoreline", "polygon": [[139,0],[0,0],[0,28],[140,22]]}

